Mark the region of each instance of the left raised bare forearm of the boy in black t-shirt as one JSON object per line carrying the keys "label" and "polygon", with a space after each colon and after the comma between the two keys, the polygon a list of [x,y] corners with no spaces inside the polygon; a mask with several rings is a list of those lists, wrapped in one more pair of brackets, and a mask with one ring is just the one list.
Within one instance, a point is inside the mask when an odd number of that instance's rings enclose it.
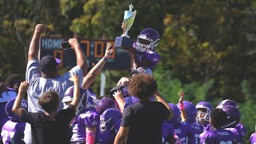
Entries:
{"label": "left raised bare forearm of the boy in black t-shirt", "polygon": [[14,102],[14,106],[13,106],[13,112],[14,114],[21,116],[22,115],[22,106],[21,106],[21,102],[22,102],[22,95],[26,93],[27,87],[29,86],[29,84],[27,82],[21,82],[21,85],[18,88],[18,95],[15,99]]}

